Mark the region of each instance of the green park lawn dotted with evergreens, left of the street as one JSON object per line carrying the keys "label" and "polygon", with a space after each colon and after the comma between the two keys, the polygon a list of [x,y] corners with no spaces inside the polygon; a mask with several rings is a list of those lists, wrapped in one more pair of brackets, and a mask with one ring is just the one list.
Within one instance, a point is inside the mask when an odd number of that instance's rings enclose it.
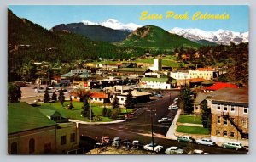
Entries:
{"label": "green park lawn dotted with evergreens, left of the street", "polygon": [[[69,102],[65,102],[64,105],[68,105]],[[42,103],[42,105],[39,108],[43,108],[43,109],[55,109],[58,112],[61,113],[61,115],[69,118],[69,119],[73,119],[73,120],[83,120],[83,121],[90,121],[90,119],[88,119],[87,117],[82,117],[81,116],[81,111],[82,111],[82,106],[83,103],[82,102],[73,102],[73,106],[74,108],[72,110],[70,109],[66,109],[64,107],[61,106],[61,103]],[[91,109],[94,113],[94,115],[102,115],[102,105],[100,104],[96,104],[96,103],[92,103],[91,104]],[[108,108],[111,109],[111,108]],[[131,112],[132,109],[127,109],[128,112]],[[121,109],[122,113],[125,113],[125,109]],[[122,116],[122,115],[119,115]],[[113,119],[108,118],[108,117],[101,117],[102,122],[104,121],[112,121]]]}

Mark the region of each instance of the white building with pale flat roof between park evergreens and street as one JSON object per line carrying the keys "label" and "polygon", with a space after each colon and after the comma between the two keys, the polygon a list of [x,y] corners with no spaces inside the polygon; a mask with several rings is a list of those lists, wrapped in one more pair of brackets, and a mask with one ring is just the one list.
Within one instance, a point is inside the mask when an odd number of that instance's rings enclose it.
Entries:
{"label": "white building with pale flat roof between park evergreens and street", "polygon": [[[127,95],[128,95],[128,92],[125,92],[125,93],[115,93],[109,99],[110,99],[110,102],[113,103],[113,98],[116,96],[116,98],[119,99],[119,104],[120,105],[125,105],[125,101],[126,101]],[[149,97],[150,97],[151,93],[139,92],[137,90],[133,90],[133,91],[131,91],[131,95],[134,98],[134,103],[145,103],[145,102],[150,101]]]}

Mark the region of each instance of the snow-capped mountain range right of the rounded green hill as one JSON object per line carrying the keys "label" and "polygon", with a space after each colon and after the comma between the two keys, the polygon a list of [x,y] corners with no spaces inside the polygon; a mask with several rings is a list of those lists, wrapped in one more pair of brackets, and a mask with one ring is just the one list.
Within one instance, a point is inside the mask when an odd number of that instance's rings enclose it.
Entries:
{"label": "snow-capped mountain range right of the rounded green hill", "polygon": [[222,29],[218,31],[203,31],[200,29],[182,29],[175,27],[169,32],[183,36],[193,42],[207,40],[218,44],[230,44],[230,42],[239,43],[241,41],[248,42],[249,40],[248,31],[243,33]]}

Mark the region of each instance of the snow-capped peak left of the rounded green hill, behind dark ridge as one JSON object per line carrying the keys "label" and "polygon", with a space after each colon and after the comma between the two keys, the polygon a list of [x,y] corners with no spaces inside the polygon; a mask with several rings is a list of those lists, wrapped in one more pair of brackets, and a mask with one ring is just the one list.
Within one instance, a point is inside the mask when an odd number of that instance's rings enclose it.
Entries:
{"label": "snow-capped peak left of the rounded green hill, behind dark ridge", "polygon": [[142,27],[141,25],[137,25],[134,23],[123,24],[118,20],[114,20],[114,19],[108,19],[102,23],[91,22],[89,20],[83,20],[82,22],[84,23],[84,25],[102,25],[114,30],[122,30],[122,31],[135,31],[138,27]]}

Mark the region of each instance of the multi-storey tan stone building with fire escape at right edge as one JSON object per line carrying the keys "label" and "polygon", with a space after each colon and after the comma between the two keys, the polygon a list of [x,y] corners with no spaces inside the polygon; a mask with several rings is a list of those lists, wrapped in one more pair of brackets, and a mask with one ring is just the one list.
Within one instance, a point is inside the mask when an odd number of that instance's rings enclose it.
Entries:
{"label": "multi-storey tan stone building with fire escape at right edge", "polygon": [[248,89],[219,89],[207,98],[207,106],[212,112],[212,141],[241,142],[248,146]]}

